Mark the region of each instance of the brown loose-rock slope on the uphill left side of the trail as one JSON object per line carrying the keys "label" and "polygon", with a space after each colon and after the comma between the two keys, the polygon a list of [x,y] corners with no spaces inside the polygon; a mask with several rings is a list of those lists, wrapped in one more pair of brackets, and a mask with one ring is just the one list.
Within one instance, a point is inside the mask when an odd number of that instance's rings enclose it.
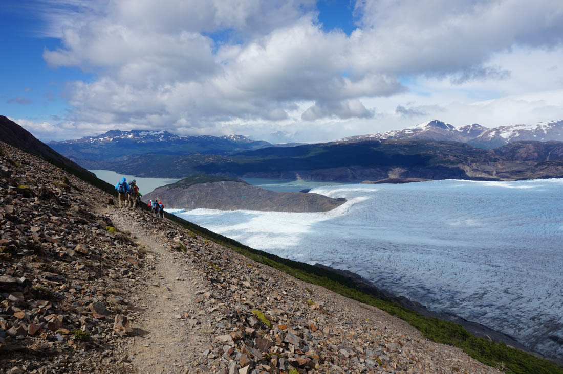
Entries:
{"label": "brown loose-rock slope on the uphill left side of the trail", "polygon": [[141,310],[145,254],[101,213],[108,199],[0,142],[0,371],[128,371],[114,320]]}

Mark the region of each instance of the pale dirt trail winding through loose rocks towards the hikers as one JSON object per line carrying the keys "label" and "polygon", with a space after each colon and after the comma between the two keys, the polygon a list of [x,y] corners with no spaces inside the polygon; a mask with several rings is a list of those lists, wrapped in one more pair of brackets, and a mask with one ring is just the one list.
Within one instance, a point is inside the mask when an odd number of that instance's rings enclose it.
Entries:
{"label": "pale dirt trail winding through loose rocks towards the hikers", "polygon": [[137,306],[146,310],[140,320],[133,321],[135,337],[129,348],[133,365],[141,373],[191,372],[198,368],[210,341],[205,334],[208,322],[194,308],[201,284],[197,271],[185,257],[160,243],[158,229],[144,227],[146,214],[115,209],[107,213],[119,231],[131,232],[145,247],[149,261],[154,258],[151,270],[146,269],[148,286],[137,295]]}

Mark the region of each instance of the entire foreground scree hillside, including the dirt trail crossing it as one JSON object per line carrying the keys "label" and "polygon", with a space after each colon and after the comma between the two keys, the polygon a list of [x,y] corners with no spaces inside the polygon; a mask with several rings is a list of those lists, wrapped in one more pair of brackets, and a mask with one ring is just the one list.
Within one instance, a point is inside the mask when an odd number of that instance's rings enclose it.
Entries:
{"label": "entire foreground scree hillside, including the dirt trail crossing it", "polygon": [[[292,262],[119,210],[55,165],[2,142],[0,151],[0,372],[498,372],[271,267],[303,274]],[[345,289],[334,274],[306,276]],[[451,327],[438,328],[449,341]],[[493,366],[560,372],[506,346],[467,344]],[[497,350],[502,359],[490,356]]]}

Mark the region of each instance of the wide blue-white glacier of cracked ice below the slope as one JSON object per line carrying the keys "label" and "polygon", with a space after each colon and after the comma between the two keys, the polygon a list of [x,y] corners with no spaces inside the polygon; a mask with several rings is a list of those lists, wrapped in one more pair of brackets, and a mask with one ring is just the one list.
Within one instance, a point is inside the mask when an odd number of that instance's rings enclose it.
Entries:
{"label": "wide blue-white glacier of cracked ice below the slope", "polygon": [[563,358],[563,179],[346,184],[311,192],[347,202],[325,213],[176,214],[256,249],[358,273],[431,310]]}

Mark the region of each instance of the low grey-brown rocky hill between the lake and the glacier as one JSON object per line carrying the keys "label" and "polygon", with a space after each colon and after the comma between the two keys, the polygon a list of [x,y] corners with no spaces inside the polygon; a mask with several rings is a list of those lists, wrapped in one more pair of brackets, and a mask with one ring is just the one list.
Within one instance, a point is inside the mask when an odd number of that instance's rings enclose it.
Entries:
{"label": "low grey-brown rocky hill between the lake and the glacier", "polygon": [[200,183],[187,188],[163,186],[143,196],[143,201],[151,199],[158,199],[169,208],[293,212],[328,211],[346,201],[318,193],[275,192],[231,181]]}

